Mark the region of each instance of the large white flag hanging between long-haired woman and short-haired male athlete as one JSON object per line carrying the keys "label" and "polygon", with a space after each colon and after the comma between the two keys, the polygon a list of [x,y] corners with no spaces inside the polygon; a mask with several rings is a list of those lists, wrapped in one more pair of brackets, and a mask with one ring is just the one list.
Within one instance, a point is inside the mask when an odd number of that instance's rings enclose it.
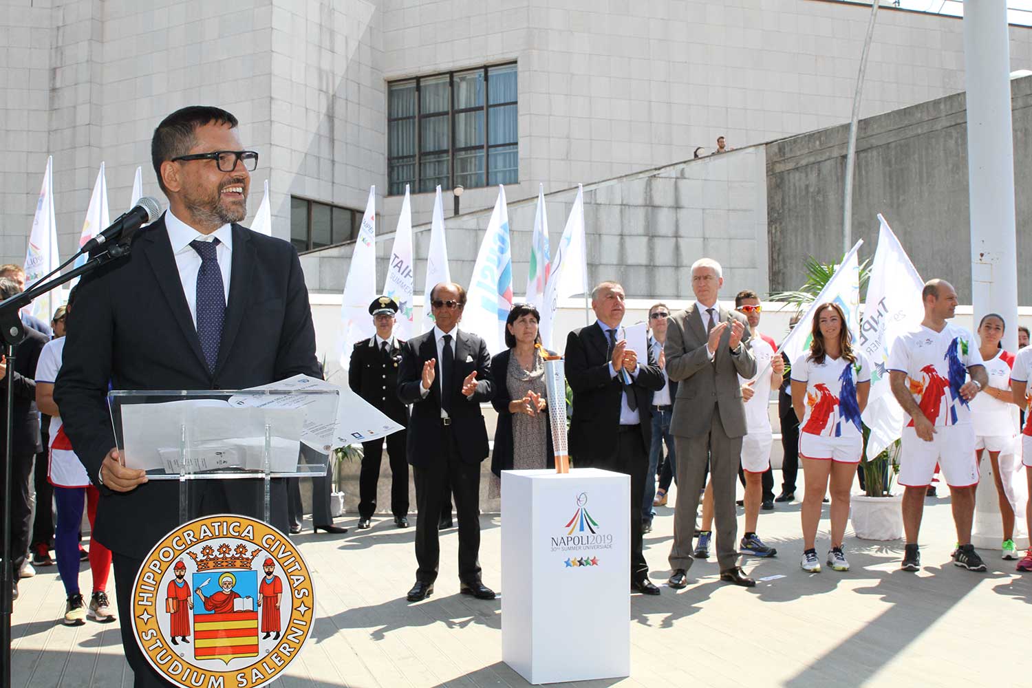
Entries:
{"label": "large white flag hanging between long-haired woman and short-haired male athlete", "polygon": [[871,392],[863,415],[864,424],[871,429],[868,458],[877,456],[902,432],[903,408],[889,388],[885,364],[893,341],[920,325],[925,317],[921,299],[925,283],[885,219],[879,215],[878,222],[878,247],[860,331],[860,349],[871,362]]}

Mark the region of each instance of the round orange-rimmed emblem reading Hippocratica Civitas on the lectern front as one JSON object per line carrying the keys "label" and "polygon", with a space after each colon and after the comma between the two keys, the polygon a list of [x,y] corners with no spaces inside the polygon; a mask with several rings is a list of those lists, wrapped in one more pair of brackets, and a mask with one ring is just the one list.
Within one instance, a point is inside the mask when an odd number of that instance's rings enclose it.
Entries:
{"label": "round orange-rimmed emblem reading Hippocratica Civitas on the lectern front", "polygon": [[143,560],[133,635],[172,685],[258,688],[297,657],[314,605],[308,565],[286,535],[221,514],[169,532]]}

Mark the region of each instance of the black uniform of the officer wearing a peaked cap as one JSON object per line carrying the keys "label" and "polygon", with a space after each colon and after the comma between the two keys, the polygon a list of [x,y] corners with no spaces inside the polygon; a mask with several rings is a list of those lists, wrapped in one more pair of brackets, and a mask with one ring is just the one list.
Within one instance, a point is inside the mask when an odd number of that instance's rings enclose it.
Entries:
{"label": "black uniform of the officer wearing a peaked cap", "polygon": [[[348,385],[392,421],[408,426],[409,407],[397,397],[397,366],[401,362],[404,343],[404,340],[396,337],[385,342],[375,336],[356,343],[351,352]],[[409,513],[407,439],[405,430],[387,436],[387,456],[391,470],[391,513],[396,517]],[[377,483],[380,479],[383,445],[383,439],[362,443],[365,451],[358,479],[359,518],[370,518],[377,510]]]}

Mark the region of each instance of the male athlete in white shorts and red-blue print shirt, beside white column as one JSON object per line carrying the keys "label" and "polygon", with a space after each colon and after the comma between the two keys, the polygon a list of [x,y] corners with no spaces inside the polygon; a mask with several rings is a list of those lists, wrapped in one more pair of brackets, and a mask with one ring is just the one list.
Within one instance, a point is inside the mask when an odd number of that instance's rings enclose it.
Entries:
{"label": "male athlete in white shorts and red-blue print shirt, beside white column", "polygon": [[[889,354],[893,395],[906,413],[899,477],[900,485],[906,487],[906,552],[901,568],[921,568],[917,534],[925,494],[938,463],[949,485],[957,526],[954,563],[983,571],[986,564],[971,545],[978,463],[969,404],[989,384],[989,378],[971,333],[946,322],[957,309],[953,286],[931,280],[922,290],[922,300],[925,319],[921,326],[898,337]],[[965,382],[965,373],[971,375],[969,382]]]}

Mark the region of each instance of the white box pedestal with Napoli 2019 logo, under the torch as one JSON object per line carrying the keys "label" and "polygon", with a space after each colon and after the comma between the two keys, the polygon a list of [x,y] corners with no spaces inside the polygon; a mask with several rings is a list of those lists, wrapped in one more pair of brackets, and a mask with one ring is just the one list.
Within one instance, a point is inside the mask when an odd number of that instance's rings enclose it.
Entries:
{"label": "white box pedestal with Napoli 2019 logo, under the torch", "polygon": [[631,477],[502,471],[502,659],[533,684],[631,675]]}

